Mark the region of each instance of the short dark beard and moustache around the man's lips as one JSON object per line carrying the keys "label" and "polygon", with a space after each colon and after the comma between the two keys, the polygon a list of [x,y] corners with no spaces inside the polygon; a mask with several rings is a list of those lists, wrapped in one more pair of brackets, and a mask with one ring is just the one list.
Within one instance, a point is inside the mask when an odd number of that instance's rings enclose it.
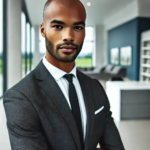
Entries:
{"label": "short dark beard and moustache around the man's lips", "polygon": [[[54,49],[54,45],[52,44],[51,41],[48,40],[46,34],[45,34],[45,43],[46,49],[49,52],[49,54],[60,62],[73,62],[80,53],[83,46],[83,42],[81,43],[81,45],[76,45],[73,42],[64,42],[63,44],[56,45],[56,49]],[[60,47],[64,45],[74,46],[75,47],[74,51],[76,52],[73,55],[71,53],[64,53],[64,55],[61,55],[59,53],[59,50],[61,49]]]}

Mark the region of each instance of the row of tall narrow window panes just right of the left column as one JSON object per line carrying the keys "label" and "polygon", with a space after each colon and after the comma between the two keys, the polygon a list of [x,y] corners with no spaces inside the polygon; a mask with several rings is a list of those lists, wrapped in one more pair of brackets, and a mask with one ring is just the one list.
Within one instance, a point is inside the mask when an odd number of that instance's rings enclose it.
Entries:
{"label": "row of tall narrow window panes just right of the left column", "polygon": [[33,69],[34,53],[34,29],[26,10],[25,3],[22,6],[21,13],[22,30],[22,77],[27,75]]}

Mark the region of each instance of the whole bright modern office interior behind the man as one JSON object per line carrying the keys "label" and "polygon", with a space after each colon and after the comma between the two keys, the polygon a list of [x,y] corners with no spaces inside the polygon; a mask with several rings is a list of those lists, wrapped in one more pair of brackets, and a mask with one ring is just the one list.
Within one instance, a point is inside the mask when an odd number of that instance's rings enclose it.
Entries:
{"label": "whole bright modern office interior behind the man", "polygon": [[[3,93],[45,53],[46,0],[0,1],[0,149],[10,150]],[[150,147],[150,0],[81,0],[86,38],[76,65],[103,85],[127,150]]]}

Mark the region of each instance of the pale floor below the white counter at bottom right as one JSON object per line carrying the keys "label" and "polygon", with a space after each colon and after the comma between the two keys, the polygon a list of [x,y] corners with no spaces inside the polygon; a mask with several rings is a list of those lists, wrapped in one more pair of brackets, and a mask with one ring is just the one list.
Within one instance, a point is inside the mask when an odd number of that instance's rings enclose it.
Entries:
{"label": "pale floor below the white counter at bottom right", "polygon": [[150,120],[116,123],[126,150],[150,150]]}

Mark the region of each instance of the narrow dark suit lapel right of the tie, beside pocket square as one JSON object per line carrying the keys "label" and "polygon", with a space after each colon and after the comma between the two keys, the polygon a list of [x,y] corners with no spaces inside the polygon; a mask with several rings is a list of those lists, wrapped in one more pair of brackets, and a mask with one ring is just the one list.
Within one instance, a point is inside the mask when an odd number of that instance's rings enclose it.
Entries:
{"label": "narrow dark suit lapel right of the tie, beside pocket square", "polygon": [[86,139],[85,139],[85,150],[90,149],[90,141],[92,141],[91,135],[92,135],[92,129],[94,125],[94,106],[92,103],[92,94],[91,94],[91,89],[89,86],[89,83],[87,80],[85,80],[85,77],[77,71],[77,76],[78,80],[80,82],[80,86],[82,89],[83,97],[84,97],[84,102],[85,102],[85,107],[86,107],[86,113],[87,113],[87,126],[86,126]]}

